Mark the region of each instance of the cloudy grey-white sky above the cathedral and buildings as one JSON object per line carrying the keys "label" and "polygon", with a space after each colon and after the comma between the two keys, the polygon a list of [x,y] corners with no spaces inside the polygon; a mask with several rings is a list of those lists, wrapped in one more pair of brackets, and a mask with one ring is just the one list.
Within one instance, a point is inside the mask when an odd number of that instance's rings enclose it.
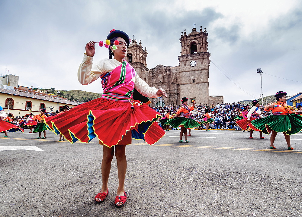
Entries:
{"label": "cloudy grey-white sky above the cathedral and buildings", "polygon": [[[177,66],[181,32],[195,23],[209,34],[210,95],[259,98],[260,67],[264,96],[302,91],[299,0],[2,0],[0,8],[0,74],[7,67],[22,86],[101,93],[100,80],[81,85],[77,70],[85,44],[113,28],[141,39],[148,68]],[[101,58],[108,50],[98,47],[94,59]]]}

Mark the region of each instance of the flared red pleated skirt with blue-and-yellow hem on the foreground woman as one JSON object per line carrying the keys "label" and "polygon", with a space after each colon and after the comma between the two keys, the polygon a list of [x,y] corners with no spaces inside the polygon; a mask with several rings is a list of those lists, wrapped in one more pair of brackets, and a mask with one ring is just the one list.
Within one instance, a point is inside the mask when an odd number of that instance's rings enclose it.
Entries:
{"label": "flared red pleated skirt with blue-and-yellow hem on the foreground woman", "polygon": [[[133,100],[134,102],[140,102]],[[165,135],[156,123],[161,115],[146,104],[131,108],[130,102],[98,98],[67,112],[45,118],[47,128],[71,143],[88,143],[98,137],[100,144],[112,147],[131,144],[131,137],[152,145]],[[130,138],[130,140],[129,140]]]}

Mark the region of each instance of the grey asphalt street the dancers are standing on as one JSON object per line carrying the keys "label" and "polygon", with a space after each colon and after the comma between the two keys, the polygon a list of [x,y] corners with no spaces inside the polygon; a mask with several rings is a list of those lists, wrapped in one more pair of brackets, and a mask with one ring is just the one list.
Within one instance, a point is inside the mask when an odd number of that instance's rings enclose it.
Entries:
{"label": "grey asphalt street the dancers are standing on", "polygon": [[302,215],[302,133],[291,136],[294,151],[280,133],[276,150],[258,132],[249,139],[242,131],[194,130],[189,143],[179,143],[179,131],[169,131],[153,146],[133,140],[126,147],[128,199],[117,209],[115,159],[109,196],[94,203],[98,140],[70,144],[50,131],[43,140],[28,132],[0,134],[0,216]]}

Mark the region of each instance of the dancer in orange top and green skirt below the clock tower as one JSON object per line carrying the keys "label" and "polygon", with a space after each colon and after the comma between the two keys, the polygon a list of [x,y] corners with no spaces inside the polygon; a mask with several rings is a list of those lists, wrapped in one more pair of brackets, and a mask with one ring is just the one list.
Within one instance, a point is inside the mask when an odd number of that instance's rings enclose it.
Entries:
{"label": "dancer in orange top and green skirt below the clock tower", "polygon": [[200,123],[195,121],[194,119],[190,118],[190,111],[194,110],[195,102],[193,105],[188,105],[188,98],[182,98],[182,105],[176,111],[176,115],[173,116],[172,119],[168,120],[168,124],[171,127],[181,127],[182,130],[180,131],[180,140],[179,142],[182,143],[182,136],[185,134],[185,142],[188,143],[188,128],[196,128],[200,126]]}

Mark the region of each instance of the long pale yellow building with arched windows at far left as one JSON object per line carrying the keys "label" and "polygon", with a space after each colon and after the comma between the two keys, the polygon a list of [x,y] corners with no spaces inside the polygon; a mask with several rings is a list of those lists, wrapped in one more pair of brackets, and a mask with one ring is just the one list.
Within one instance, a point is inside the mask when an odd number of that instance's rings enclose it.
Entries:
{"label": "long pale yellow building with arched windows at far left", "polygon": [[[28,91],[15,91],[14,87],[6,86],[7,88],[0,88],[0,105],[5,112],[15,116],[24,116],[28,113],[37,115],[41,108],[46,108],[46,112],[62,111],[64,105],[70,108],[78,105],[75,102],[67,101],[64,98],[57,99],[43,93],[28,93]],[[43,96],[41,96],[43,95]],[[58,103],[59,102],[59,103]]]}

